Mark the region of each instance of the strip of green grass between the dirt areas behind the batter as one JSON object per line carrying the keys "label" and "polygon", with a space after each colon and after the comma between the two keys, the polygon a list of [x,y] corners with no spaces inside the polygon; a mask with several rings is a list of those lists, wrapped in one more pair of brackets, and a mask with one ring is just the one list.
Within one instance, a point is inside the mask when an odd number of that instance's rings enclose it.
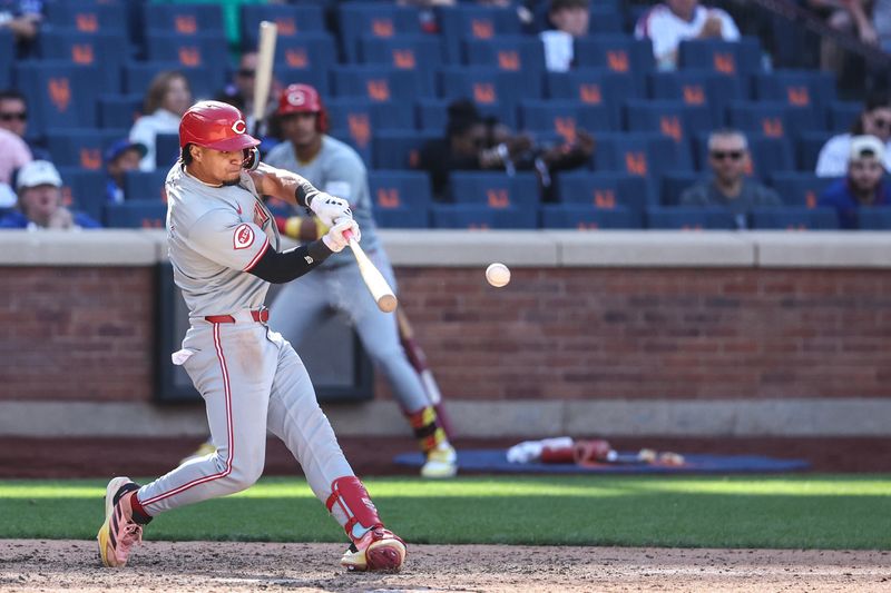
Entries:
{"label": "strip of green grass between the dirt areas behind the batter", "polygon": [[[891,548],[891,475],[366,478],[414,543]],[[90,538],[105,483],[0,481],[0,538]],[[303,480],[157,517],[149,540],[342,542]]]}

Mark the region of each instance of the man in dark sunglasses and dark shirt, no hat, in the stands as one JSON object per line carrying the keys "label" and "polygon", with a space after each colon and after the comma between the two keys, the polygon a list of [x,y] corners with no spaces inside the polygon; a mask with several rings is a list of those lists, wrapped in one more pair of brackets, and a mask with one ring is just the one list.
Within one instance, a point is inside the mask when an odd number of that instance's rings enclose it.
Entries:
{"label": "man in dark sunglasses and dark shirt, no hat, in the stands", "polygon": [[682,206],[719,206],[736,217],[740,229],[748,228],[753,208],[782,206],[776,192],[746,176],[751,167],[748,140],[738,130],[721,129],[708,137],[708,165],[712,177],[688,187],[681,195]]}

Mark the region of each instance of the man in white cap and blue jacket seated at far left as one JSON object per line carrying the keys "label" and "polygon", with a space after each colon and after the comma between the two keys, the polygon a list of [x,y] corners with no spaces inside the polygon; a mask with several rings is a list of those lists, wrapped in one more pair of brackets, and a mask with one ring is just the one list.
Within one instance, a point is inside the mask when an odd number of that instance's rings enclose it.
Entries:
{"label": "man in white cap and blue jacket seated at far left", "polygon": [[48,160],[35,160],[19,171],[16,187],[18,209],[0,219],[0,228],[78,229],[100,225],[82,213],[62,205],[62,179]]}

